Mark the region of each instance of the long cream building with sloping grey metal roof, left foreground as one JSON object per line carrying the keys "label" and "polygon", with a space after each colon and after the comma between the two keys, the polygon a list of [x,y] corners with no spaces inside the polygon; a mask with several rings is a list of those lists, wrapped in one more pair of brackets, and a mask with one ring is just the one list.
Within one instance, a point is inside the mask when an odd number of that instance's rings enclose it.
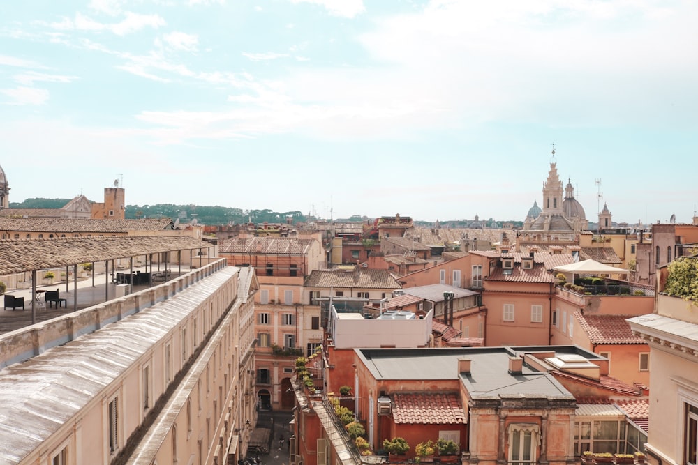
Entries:
{"label": "long cream building with sloping grey metal roof, left foreground", "polygon": [[2,335],[0,463],[237,459],[255,424],[257,288],[253,268],[216,260]]}

